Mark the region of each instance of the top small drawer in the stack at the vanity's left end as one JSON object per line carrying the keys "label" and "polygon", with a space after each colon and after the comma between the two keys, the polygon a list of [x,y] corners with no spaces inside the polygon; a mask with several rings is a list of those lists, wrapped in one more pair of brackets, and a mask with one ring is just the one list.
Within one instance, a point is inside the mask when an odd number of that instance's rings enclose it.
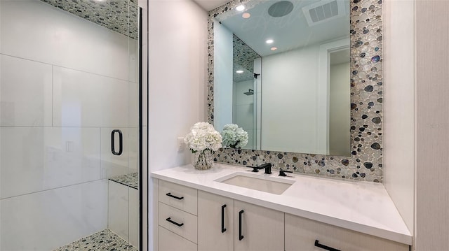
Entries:
{"label": "top small drawer in the stack at the vanity's left end", "polygon": [[196,215],[198,192],[191,187],[159,180],[159,201]]}

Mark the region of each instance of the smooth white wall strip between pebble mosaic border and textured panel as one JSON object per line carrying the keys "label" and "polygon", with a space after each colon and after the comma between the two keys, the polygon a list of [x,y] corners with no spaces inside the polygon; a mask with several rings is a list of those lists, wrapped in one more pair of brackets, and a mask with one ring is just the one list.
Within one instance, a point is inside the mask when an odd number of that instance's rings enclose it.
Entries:
{"label": "smooth white wall strip between pebble mosaic border and textured panel", "polygon": [[[384,2],[384,186],[413,233],[414,1]],[[429,83],[427,83],[429,84]]]}

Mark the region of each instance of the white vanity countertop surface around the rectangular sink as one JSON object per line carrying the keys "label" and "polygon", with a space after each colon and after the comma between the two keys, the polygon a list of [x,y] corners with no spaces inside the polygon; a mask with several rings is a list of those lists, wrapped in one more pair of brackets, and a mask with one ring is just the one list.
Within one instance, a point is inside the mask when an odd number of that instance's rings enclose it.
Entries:
{"label": "white vanity countertop surface around the rectangular sink", "polygon": [[236,171],[250,170],[215,163],[213,168],[206,171],[187,165],[156,171],[152,177],[391,241],[412,244],[410,231],[382,184],[291,173],[288,173],[289,177],[280,177],[277,170],[273,170],[270,175],[264,174],[263,170],[255,173],[295,180],[283,194],[276,195],[215,181]]}

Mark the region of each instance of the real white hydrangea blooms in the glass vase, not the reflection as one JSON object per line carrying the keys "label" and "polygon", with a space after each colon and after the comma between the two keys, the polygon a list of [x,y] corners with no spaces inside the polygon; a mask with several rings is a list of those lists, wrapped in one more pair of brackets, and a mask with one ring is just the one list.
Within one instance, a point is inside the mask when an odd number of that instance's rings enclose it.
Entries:
{"label": "real white hydrangea blooms in the glass vase, not the reflection", "polygon": [[185,136],[184,142],[189,145],[192,152],[206,149],[216,151],[222,147],[222,136],[218,131],[215,131],[212,124],[198,122],[190,129],[190,133]]}

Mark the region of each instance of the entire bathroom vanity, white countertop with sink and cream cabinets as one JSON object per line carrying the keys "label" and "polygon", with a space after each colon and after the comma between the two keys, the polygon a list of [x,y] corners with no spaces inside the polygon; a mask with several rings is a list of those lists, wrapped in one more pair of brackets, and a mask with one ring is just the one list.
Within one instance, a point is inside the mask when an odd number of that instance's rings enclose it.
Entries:
{"label": "entire bathroom vanity, white countertop with sink and cream cabinets", "polygon": [[[159,250],[409,250],[382,184],[217,164],[152,173]],[[262,192],[263,191],[263,192]]]}

